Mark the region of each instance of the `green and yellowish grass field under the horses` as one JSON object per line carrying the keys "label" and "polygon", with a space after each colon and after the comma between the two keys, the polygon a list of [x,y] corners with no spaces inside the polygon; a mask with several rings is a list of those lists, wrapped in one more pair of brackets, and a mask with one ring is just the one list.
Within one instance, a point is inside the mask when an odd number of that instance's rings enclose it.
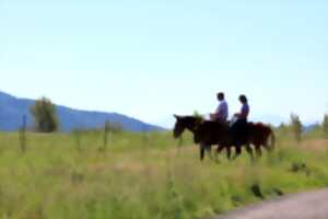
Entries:
{"label": "green and yellowish grass field under the horses", "polygon": [[[296,145],[278,132],[271,154],[199,162],[189,135],[102,131],[0,134],[0,218],[210,218],[289,193],[328,186],[320,130]],[[178,147],[179,146],[179,147]]]}

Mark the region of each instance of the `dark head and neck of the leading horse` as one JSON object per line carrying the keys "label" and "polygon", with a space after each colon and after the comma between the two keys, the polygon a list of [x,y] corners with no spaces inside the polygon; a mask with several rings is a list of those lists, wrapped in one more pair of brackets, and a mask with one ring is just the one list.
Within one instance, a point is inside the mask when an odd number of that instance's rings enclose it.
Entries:
{"label": "dark head and neck of the leading horse", "polygon": [[179,138],[186,129],[194,131],[196,127],[202,122],[200,117],[196,116],[174,115],[174,117],[176,118],[176,123],[173,129],[174,138]]}

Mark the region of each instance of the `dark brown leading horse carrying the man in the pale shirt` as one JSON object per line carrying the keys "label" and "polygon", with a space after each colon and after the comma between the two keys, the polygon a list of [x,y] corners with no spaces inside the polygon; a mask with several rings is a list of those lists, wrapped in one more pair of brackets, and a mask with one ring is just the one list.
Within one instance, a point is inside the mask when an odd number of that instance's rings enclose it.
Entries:
{"label": "dark brown leading horse carrying the man in the pale shirt", "polygon": [[[227,159],[231,159],[232,143],[227,143],[227,139],[222,140],[221,138],[218,138],[226,137],[226,131],[229,130],[227,125],[218,122],[203,120],[201,117],[197,116],[174,115],[174,117],[176,118],[173,130],[174,138],[180,137],[186,129],[191,131],[194,134],[194,141],[200,145],[200,160],[203,160],[206,150],[211,151],[211,146],[213,145],[221,145],[220,151],[225,148],[227,151]],[[246,149],[253,157],[251,148],[246,146]],[[237,147],[236,151],[239,151]]]}

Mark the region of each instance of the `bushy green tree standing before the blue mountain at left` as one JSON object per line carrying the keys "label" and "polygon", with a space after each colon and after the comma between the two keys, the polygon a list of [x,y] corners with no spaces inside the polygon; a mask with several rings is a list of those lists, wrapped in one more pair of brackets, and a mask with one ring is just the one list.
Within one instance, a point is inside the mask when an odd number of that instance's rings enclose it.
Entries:
{"label": "bushy green tree standing before the blue mountain at left", "polygon": [[40,132],[52,132],[58,129],[59,123],[57,118],[56,105],[47,97],[35,101],[30,108],[34,117],[36,130]]}

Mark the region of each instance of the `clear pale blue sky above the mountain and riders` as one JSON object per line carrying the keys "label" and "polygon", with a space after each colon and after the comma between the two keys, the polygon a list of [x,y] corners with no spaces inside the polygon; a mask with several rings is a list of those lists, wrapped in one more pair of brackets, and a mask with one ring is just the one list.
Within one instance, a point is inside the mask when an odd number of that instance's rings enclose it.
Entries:
{"label": "clear pale blue sky above the mountain and riders", "polygon": [[172,125],[223,91],[251,118],[328,113],[328,1],[0,0],[0,90]]}

